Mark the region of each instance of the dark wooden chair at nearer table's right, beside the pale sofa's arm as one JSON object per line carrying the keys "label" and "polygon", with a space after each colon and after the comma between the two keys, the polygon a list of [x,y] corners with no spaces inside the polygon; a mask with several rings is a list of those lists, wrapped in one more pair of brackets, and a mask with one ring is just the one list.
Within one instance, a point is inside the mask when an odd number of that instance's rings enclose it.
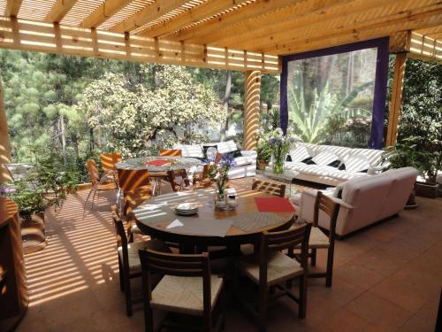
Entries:
{"label": "dark wooden chair at nearer table's right, beside the pale sofa's arm", "polygon": [[[327,197],[322,191],[317,192],[313,212],[313,227],[311,228],[309,239],[310,265],[316,266],[316,251],[318,249],[326,249],[327,266],[325,272],[309,273],[309,278],[325,278],[326,287],[331,287],[333,278],[334,244],[336,239],[336,223],[338,221],[339,207],[339,203],[336,203],[331,197]],[[318,227],[320,212],[324,212],[330,220],[328,235]]]}

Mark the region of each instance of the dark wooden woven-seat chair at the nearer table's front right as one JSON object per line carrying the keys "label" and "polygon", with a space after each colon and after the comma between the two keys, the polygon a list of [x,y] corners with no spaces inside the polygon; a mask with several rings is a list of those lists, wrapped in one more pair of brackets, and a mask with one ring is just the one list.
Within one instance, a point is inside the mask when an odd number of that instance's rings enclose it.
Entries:
{"label": "dark wooden woven-seat chair at the nearer table's front right", "polygon": [[[281,296],[292,298],[299,305],[299,317],[305,318],[307,310],[307,274],[309,270],[309,224],[299,228],[286,229],[280,232],[263,232],[259,243],[259,254],[244,256],[236,261],[236,271],[245,275],[258,286],[258,310],[255,307],[238,301],[249,313],[255,316],[260,331],[266,330],[268,301]],[[281,251],[292,252],[301,245],[301,262],[287,257]],[[293,294],[292,282],[300,280],[299,297]],[[239,295],[238,276],[235,275],[234,294]],[[283,285],[286,282],[286,285]],[[271,292],[270,290],[278,290]]]}

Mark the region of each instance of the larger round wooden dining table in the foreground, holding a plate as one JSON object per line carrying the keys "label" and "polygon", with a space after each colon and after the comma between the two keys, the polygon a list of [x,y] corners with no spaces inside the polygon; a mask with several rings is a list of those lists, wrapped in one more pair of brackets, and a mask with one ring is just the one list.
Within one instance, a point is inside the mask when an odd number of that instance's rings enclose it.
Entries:
{"label": "larger round wooden dining table in the foreground, holding a plate", "polygon": [[[138,228],[145,235],[179,245],[180,253],[207,251],[210,246],[224,246],[226,254],[237,255],[240,245],[257,243],[263,231],[289,227],[293,212],[261,212],[256,197],[274,197],[260,191],[237,190],[237,207],[218,211],[215,189],[178,191],[154,197],[134,209]],[[285,198],[282,198],[285,199]],[[175,212],[181,203],[196,203],[198,213],[182,216]]]}

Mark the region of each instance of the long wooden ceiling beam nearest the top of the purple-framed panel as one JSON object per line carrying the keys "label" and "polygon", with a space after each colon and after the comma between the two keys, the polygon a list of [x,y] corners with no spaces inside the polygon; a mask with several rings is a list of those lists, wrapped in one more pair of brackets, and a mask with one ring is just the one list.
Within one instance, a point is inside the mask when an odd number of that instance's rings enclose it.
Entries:
{"label": "long wooden ceiling beam nearest the top of the purple-framed panel", "polygon": [[[373,38],[389,36],[394,33],[406,30],[413,30],[416,27],[431,27],[442,19],[442,11],[423,12],[400,19],[392,19],[374,25],[366,25],[353,30],[344,30],[339,33],[324,34],[316,38],[299,38],[291,42],[257,46],[256,51],[268,52],[271,54],[292,54],[306,50],[319,50],[326,47],[342,45],[349,42],[360,42]],[[269,51],[266,51],[269,50]],[[271,50],[271,51],[270,51]]]}

